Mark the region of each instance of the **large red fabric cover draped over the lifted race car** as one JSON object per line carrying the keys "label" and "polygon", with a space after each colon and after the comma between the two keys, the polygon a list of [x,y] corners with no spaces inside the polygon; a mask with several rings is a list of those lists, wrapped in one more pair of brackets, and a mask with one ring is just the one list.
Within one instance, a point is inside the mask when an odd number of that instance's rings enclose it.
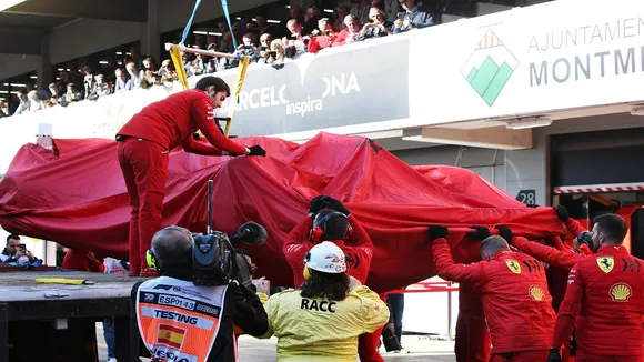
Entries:
{"label": "large red fabric cover draped over the lifted race car", "polygon": [[[232,233],[245,221],[269,232],[265,244],[243,245],[273,285],[292,285],[282,244],[312,198],[340,199],[374,243],[368,283],[386,292],[434,275],[427,224],[492,227],[543,239],[563,233],[550,208],[531,209],[474,172],[453,167],[412,168],[376,142],[320,133],[304,144],[239,138],[268,157],[170,154],[163,225],[205,232],[207,181],[214,180],[213,228]],[[56,151],[20,149],[0,183],[0,224],[72,249],[128,259],[130,207],[117,142],[56,139]],[[456,262],[476,258],[464,234],[449,240]]]}

